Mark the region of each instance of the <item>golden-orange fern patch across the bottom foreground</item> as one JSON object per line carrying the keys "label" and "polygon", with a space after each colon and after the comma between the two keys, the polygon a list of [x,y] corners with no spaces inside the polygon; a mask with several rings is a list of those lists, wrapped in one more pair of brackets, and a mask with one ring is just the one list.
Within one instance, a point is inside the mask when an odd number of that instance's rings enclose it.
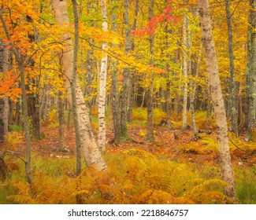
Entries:
{"label": "golden-orange fern patch across the bottom foreground", "polygon": [[139,149],[108,157],[108,170],[87,167],[77,177],[34,172],[33,185],[9,181],[15,203],[232,203],[219,179],[196,178],[187,165]]}

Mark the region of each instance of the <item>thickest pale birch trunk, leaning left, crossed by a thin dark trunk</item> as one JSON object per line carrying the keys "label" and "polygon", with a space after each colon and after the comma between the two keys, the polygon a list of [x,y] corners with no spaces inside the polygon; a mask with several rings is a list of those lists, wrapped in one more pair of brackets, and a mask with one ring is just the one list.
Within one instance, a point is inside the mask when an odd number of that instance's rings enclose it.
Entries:
{"label": "thickest pale birch trunk, leaning left, crossed by a thin dark trunk", "polygon": [[[69,25],[66,1],[53,0],[52,6],[55,12],[56,22],[61,27],[67,24]],[[62,53],[62,64],[64,66],[66,76],[65,89],[67,90],[69,105],[72,105],[70,88],[70,80],[72,79],[73,68],[72,39],[69,34],[62,35],[62,39],[65,42],[65,49],[63,49]],[[94,165],[97,170],[104,170],[106,169],[106,163],[102,159],[101,152],[98,148],[97,142],[95,141],[87,106],[83,100],[83,93],[78,80],[76,80],[76,104],[78,121],[80,122],[80,141],[83,158],[85,159],[87,166]]]}

